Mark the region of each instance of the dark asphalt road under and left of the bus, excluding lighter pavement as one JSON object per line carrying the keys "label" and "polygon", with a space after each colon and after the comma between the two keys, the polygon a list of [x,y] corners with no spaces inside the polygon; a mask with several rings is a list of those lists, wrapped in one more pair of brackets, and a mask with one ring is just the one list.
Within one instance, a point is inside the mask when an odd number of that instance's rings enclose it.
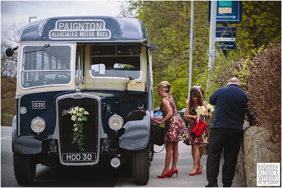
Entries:
{"label": "dark asphalt road under and left of the bus, excluding lighter pavement", "polygon": [[13,170],[12,127],[1,126],[1,187],[114,187],[122,171],[123,168],[38,164],[32,185],[18,185]]}

